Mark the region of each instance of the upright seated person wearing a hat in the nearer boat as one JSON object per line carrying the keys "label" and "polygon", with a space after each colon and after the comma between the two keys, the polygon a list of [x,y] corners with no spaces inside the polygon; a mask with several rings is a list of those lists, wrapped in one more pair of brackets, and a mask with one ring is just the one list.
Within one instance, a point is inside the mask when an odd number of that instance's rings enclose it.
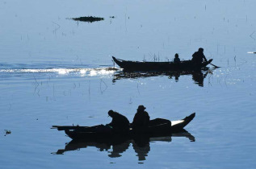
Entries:
{"label": "upright seated person wearing a hat in the nearer boat", "polygon": [[133,130],[145,130],[149,126],[149,113],[145,111],[144,105],[139,105],[135,116],[133,117]]}

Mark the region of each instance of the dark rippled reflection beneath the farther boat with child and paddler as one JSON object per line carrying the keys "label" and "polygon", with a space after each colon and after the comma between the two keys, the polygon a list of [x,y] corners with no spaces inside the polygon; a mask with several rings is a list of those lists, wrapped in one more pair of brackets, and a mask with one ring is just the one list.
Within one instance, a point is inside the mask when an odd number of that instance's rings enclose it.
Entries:
{"label": "dark rippled reflection beneath the farther boat with child and paddler", "polygon": [[171,71],[171,72],[116,72],[114,75],[113,83],[120,79],[137,79],[141,77],[152,77],[152,76],[168,76],[169,79],[173,79],[178,82],[180,76],[192,76],[192,80],[195,84],[204,87],[204,78],[208,73],[212,74],[213,69],[206,69],[203,71]]}

